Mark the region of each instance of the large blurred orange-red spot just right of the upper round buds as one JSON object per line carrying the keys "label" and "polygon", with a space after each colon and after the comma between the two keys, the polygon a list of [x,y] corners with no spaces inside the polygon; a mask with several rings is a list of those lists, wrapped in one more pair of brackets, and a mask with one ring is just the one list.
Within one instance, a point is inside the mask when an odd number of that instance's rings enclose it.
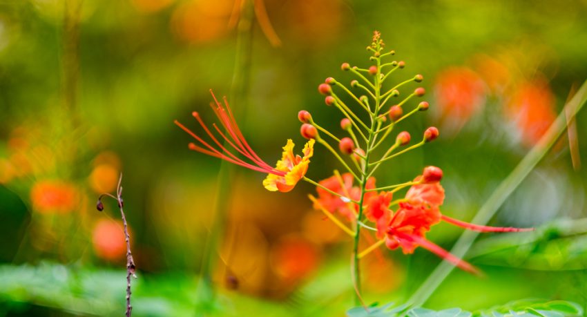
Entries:
{"label": "large blurred orange-red spot just right of the upper round buds", "polygon": [[469,68],[448,68],[434,86],[443,124],[461,128],[485,103],[485,83]]}

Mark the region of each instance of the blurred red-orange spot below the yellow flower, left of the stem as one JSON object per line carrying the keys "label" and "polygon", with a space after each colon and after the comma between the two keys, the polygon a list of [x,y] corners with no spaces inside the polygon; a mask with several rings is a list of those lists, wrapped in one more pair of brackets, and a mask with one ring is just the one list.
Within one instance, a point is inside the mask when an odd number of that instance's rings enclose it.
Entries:
{"label": "blurred red-orange spot below the yellow flower, left of the stem", "polygon": [[285,280],[304,278],[318,265],[319,253],[314,244],[300,236],[282,238],[273,248],[273,269]]}

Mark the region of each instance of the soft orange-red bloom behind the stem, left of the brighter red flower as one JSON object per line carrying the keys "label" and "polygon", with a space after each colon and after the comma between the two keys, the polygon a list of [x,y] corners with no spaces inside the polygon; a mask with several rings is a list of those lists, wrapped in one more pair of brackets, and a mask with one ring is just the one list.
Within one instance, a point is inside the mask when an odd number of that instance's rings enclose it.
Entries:
{"label": "soft orange-red bloom behind the stem, left of the brighter red flower", "polygon": [[[314,209],[320,209],[321,206],[329,211],[329,213],[340,213],[340,215],[347,218],[349,222],[356,220],[358,205],[349,202],[349,200],[357,201],[360,199],[360,188],[358,186],[353,186],[353,180],[354,177],[351,173],[344,173],[343,175],[334,175],[318,182],[318,184],[324,188],[320,186],[316,187],[318,199],[316,200],[316,203],[314,203]],[[329,189],[329,191],[325,188]],[[375,178],[369,177],[367,184],[365,184],[365,189],[374,188]],[[331,192],[338,193],[343,197],[349,198],[349,200],[345,201],[343,198],[340,198],[340,196],[334,195]],[[376,193],[365,193],[365,201],[372,197],[372,195],[376,195]]]}

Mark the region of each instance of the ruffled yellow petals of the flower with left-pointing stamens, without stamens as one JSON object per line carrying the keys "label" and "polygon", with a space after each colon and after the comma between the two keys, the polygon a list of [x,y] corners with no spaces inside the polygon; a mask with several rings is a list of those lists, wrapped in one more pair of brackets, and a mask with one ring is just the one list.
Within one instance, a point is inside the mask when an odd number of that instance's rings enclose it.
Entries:
{"label": "ruffled yellow petals of the flower with left-pointing stamens, without stamens", "polygon": [[314,155],[314,139],[309,140],[300,155],[294,155],[294,142],[291,139],[287,140],[287,144],[283,147],[281,160],[276,164],[276,170],[285,173],[284,176],[269,174],[263,180],[263,186],[268,191],[280,191],[286,193],[294,189],[294,186],[306,175],[310,157]]}

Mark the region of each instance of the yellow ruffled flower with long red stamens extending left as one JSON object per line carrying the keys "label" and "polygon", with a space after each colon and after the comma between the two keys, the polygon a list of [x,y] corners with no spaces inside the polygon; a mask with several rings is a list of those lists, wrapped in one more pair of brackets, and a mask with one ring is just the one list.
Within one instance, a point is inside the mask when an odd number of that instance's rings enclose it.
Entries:
{"label": "yellow ruffled flower with long red stamens extending left", "polygon": [[193,112],[192,115],[198,121],[200,126],[204,129],[206,134],[212,140],[215,146],[212,146],[208,142],[204,141],[202,137],[199,137],[195,133],[193,133],[189,128],[186,128],[183,124],[180,124],[177,120],[175,120],[175,124],[182,128],[182,130],[186,131],[189,135],[191,135],[200,145],[196,145],[195,143],[190,143],[189,148],[192,151],[198,151],[200,153],[204,153],[207,155],[211,155],[213,157],[218,157],[221,160],[225,160],[227,162],[231,162],[233,164],[237,164],[240,166],[244,166],[247,169],[251,169],[253,171],[258,171],[261,173],[267,173],[267,178],[263,181],[263,186],[269,191],[282,191],[287,192],[291,191],[291,189],[296,186],[297,182],[304,177],[307,169],[308,164],[310,162],[309,158],[314,154],[314,142],[315,140],[309,140],[306,145],[304,146],[304,157],[300,157],[299,155],[294,155],[294,142],[291,140],[287,140],[287,144],[283,147],[283,155],[282,159],[277,162],[277,166],[275,168],[271,167],[269,164],[264,162],[260,159],[259,155],[253,151],[251,146],[247,140],[244,140],[244,136],[240,131],[240,128],[236,124],[234,116],[232,114],[231,108],[227,102],[226,97],[224,97],[224,106],[218,102],[215,95],[210,90],[212,97],[214,98],[214,102],[216,106],[212,106],[214,113],[220,120],[220,124],[224,127],[224,133],[220,130],[220,128],[216,124],[212,124],[215,128],[218,135],[224,139],[226,144],[229,144],[236,152],[240,153],[240,155],[247,157],[250,162],[242,160],[240,157],[237,156],[236,153],[229,151],[222,142],[220,142],[214,134],[210,131],[208,126],[204,124],[202,118],[197,112]]}

